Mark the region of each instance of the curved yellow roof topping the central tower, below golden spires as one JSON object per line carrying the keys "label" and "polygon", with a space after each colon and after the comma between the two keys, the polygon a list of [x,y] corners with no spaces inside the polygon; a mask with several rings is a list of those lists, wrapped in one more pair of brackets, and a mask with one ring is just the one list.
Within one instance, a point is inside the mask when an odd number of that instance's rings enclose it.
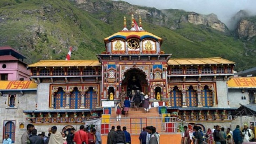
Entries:
{"label": "curved yellow roof topping the central tower, below golden spires", "polygon": [[146,31],[120,31],[112,34],[111,36],[108,36],[107,38],[104,39],[104,41],[111,41],[112,39],[115,39],[115,38],[122,38],[124,40],[127,40],[131,37],[136,37],[136,38],[139,38],[140,40],[144,38],[152,38],[160,42],[162,42],[163,40],[162,38]]}

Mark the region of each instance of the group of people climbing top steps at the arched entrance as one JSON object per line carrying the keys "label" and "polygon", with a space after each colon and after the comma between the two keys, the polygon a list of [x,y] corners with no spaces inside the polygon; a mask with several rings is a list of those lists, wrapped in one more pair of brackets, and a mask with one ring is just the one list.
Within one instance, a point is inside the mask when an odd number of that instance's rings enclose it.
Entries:
{"label": "group of people climbing top steps at the arched entrance", "polygon": [[140,93],[140,91],[135,92],[132,90],[131,95],[128,96],[126,95],[126,92],[124,92],[124,89],[122,89],[122,92],[120,93],[120,99],[121,102],[118,102],[115,108],[116,121],[121,120],[122,114],[124,114],[125,117],[129,117],[130,108],[135,108],[135,110],[138,111],[140,104],[143,104],[145,113],[149,112],[149,109],[151,108],[149,97],[148,95],[144,95],[144,92]]}

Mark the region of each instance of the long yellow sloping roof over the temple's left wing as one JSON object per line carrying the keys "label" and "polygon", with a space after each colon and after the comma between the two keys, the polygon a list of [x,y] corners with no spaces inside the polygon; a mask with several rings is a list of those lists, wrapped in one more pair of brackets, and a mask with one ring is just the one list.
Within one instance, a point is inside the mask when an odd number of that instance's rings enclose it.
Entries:
{"label": "long yellow sloping roof over the temple's left wing", "polygon": [[99,60],[40,60],[28,67],[85,67],[101,66]]}

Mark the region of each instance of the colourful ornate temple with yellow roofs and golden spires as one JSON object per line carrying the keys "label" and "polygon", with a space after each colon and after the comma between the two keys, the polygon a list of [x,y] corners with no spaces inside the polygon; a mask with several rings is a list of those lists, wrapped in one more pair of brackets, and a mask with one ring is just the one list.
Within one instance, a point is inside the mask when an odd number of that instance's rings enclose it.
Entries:
{"label": "colourful ornate temple with yellow roofs and golden spires", "polygon": [[[204,131],[217,124],[234,129],[254,122],[233,113],[241,105],[256,103],[256,77],[234,77],[235,62],[220,57],[173,59],[161,50],[163,39],[148,31],[141,19],[138,28],[132,21],[128,30],[124,19],[124,28],[104,39],[105,51],[97,60],[40,60],[28,65],[13,48],[0,47],[0,141],[9,134],[20,144],[27,124],[47,133],[53,125],[60,131],[78,129],[104,117],[109,120],[101,127],[108,129],[115,121],[108,107],[120,101],[121,92],[130,96],[132,91],[144,92],[152,104],[152,112],[142,111],[136,118],[175,115]],[[165,108],[165,115],[156,110],[151,116],[156,106]],[[132,116],[128,119],[131,129]],[[144,125],[136,127],[141,130]],[[166,132],[157,127],[161,130]]]}

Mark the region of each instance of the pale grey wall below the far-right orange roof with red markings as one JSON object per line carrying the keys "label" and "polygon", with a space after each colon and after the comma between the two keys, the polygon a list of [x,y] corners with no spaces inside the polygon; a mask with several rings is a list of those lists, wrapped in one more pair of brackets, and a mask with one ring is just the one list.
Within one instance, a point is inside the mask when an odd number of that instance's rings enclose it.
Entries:
{"label": "pale grey wall below the far-right orange roof with red markings", "polygon": [[[242,100],[242,96],[245,96],[246,100]],[[249,104],[248,90],[242,93],[242,89],[228,89],[228,99],[230,107],[239,108],[240,104]]]}

